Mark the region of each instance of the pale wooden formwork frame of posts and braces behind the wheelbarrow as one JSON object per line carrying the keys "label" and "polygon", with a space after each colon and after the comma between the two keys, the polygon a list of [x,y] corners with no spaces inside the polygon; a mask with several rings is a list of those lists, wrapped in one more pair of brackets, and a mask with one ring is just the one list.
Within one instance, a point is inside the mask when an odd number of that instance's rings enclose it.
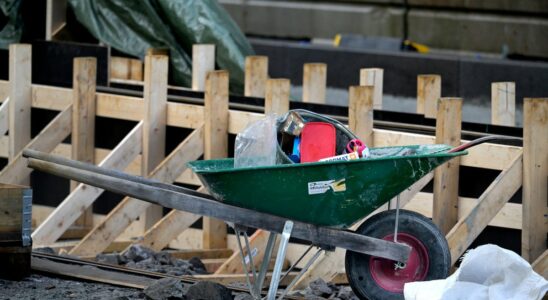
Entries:
{"label": "pale wooden formwork frame of posts and braces behind the wheelbarrow", "polygon": [[[8,166],[0,173],[0,181],[3,182],[24,183],[28,178],[30,170],[26,168],[25,162],[19,154],[23,147],[27,147],[65,156],[72,155],[78,159],[92,160],[105,167],[126,170],[164,182],[179,181],[196,184],[196,178],[188,173],[184,166],[185,162],[197,159],[201,155],[205,155],[207,158],[226,156],[226,142],[219,143],[218,141],[226,141],[228,133],[236,134],[243,130],[246,124],[263,116],[259,113],[228,109],[228,74],[225,71],[198,72],[198,74],[207,74],[207,78],[203,80],[206,95],[205,106],[167,102],[167,57],[161,55],[147,56],[143,99],[96,93],[94,84],[90,83],[89,79],[87,83],[80,82],[81,78],[86,78],[83,76],[85,72],[90,74],[90,68],[92,68],[90,66],[93,65],[84,58],[75,60],[76,66],[81,63],[87,67],[75,67],[75,73],[78,74],[74,74],[73,89],[31,84],[29,47],[29,45],[12,45],[10,47],[11,81],[0,81],[0,99],[9,99],[0,106],[0,131],[4,134],[6,131],[10,133],[8,137],[0,138],[0,156],[10,158]],[[206,55],[206,57],[212,57],[212,55]],[[268,76],[264,75],[268,74],[268,64],[264,60],[263,57],[248,59],[246,64],[249,66],[246,68],[250,70],[248,72],[255,72],[259,74],[257,76],[264,78],[263,80],[249,79],[251,82],[249,91],[253,91],[249,92],[249,95],[260,96],[258,93],[264,91],[265,111],[283,113],[289,107],[289,81],[268,79]],[[211,63],[204,63],[203,60],[197,61],[200,61],[203,68],[210,69]],[[318,66],[320,73],[325,71],[321,70],[324,67],[316,65],[316,67]],[[196,68],[199,67],[199,65],[196,66]],[[156,75],[152,75],[153,72],[157,72]],[[307,72],[305,76],[311,76],[310,72]],[[254,78],[253,75],[248,76]],[[309,82],[317,82],[320,91],[325,89],[325,83],[322,80]],[[261,83],[264,86],[261,87]],[[363,69],[360,72],[360,83],[364,85],[351,87],[349,91],[349,126],[369,145],[387,146],[434,142],[458,144],[460,142],[459,102],[461,100],[436,99],[441,95],[441,92],[438,91],[441,85],[439,76],[429,75],[426,79],[424,76],[418,78],[417,110],[425,114],[435,112],[438,120],[436,137],[373,129],[373,107],[382,105],[382,69]],[[93,88],[87,88],[85,90],[88,92],[83,93],[79,85],[86,86],[86,84]],[[506,86],[508,85],[506,84]],[[429,87],[434,90],[430,91]],[[515,89],[514,86],[511,86],[510,90],[512,88]],[[313,87],[308,89],[309,91],[314,90]],[[493,91],[500,91],[500,89],[494,87]],[[493,103],[515,101],[515,99],[508,100],[512,97],[512,93],[506,93],[503,97],[504,100],[501,101],[500,93],[494,92]],[[321,97],[318,96],[317,99],[319,98]],[[499,100],[495,101],[496,99]],[[92,100],[94,104],[90,104]],[[321,99],[319,100],[321,101]],[[379,103],[379,101],[381,102]],[[457,103],[456,106],[454,103]],[[75,107],[82,107],[82,105],[88,107],[87,112],[83,113],[80,109],[74,111]],[[89,109],[90,105],[94,105],[94,114],[93,109]],[[432,105],[436,107],[432,107]],[[496,105],[501,106],[500,104]],[[434,220],[446,221],[447,224],[444,225],[444,228],[448,232],[447,239],[451,246],[453,261],[489,224],[522,229],[523,256],[529,261],[545,253],[544,239],[547,222],[544,215],[546,214],[547,192],[546,182],[543,180],[546,179],[548,169],[546,157],[548,146],[545,138],[548,136],[546,121],[548,99],[525,99],[524,105],[523,149],[514,146],[483,144],[473,148],[468,156],[460,159],[460,165],[502,171],[478,199],[458,197],[455,188],[458,185],[457,180],[451,180],[453,177],[447,178],[447,176],[455,176],[454,171],[446,170],[440,170],[441,175],[426,176],[401,195],[401,201],[406,208],[418,210],[427,216],[432,216]],[[503,108],[512,108],[512,105],[502,106]],[[26,118],[19,117],[19,114],[30,111],[30,107],[61,111],[32,140],[30,140],[30,133],[17,134],[24,128],[30,128],[28,125],[30,118],[28,116]],[[75,126],[74,122],[82,122],[93,115],[133,120],[139,123],[112,151],[93,149],[94,151],[89,152],[89,144],[80,142],[72,145],[71,151],[71,146],[60,144],[71,132],[85,135],[85,127]],[[165,133],[158,134],[158,132],[165,132],[167,125],[192,128],[194,132],[164,159],[162,150],[158,150],[160,149],[158,145],[163,145],[161,135],[165,139]],[[87,130],[90,129],[87,128]],[[78,139],[76,140],[78,141]],[[152,150],[151,147],[155,147],[155,150]],[[84,151],[80,149],[86,149],[87,154],[81,156],[70,154],[74,151]],[[453,163],[452,168],[454,165],[458,166]],[[453,175],[447,175],[451,172]],[[438,185],[439,188],[435,188],[434,195],[420,193],[422,187],[432,177],[442,177],[437,179],[442,180],[441,183],[435,183],[435,186]],[[521,186],[523,186],[523,204],[507,203],[508,199]],[[63,203],[35,230],[33,233],[35,244],[43,245],[55,242],[68,229],[70,223],[75,221],[100,193],[99,189],[93,187],[81,184],[76,186]],[[447,206],[446,199],[451,199],[451,209],[444,209],[444,205]],[[135,199],[124,199],[79,244],[73,246],[70,253],[89,256],[104,251],[150,206],[151,204]],[[435,207],[441,207],[441,209]],[[198,218],[199,216],[189,213],[172,211],[157,223],[149,224],[148,230],[145,229],[146,227],[142,229],[147,230],[141,231],[141,233],[144,232],[142,242],[154,249],[161,249]],[[202,247],[226,247],[226,232],[222,231],[226,227],[218,222],[210,222],[212,223],[204,226]],[[212,230],[213,228],[222,228],[222,230]],[[264,244],[264,235],[264,232],[258,231],[253,236],[252,248],[261,248]],[[537,263],[537,266],[545,265],[545,259],[542,257],[539,258],[540,263]],[[308,282],[307,280],[318,276],[333,279],[341,266],[340,260],[340,252],[325,255],[308,271],[308,274],[296,287],[302,286]],[[255,262],[257,261],[260,259],[255,260]],[[234,271],[235,264],[236,258],[233,256],[220,266],[218,273]]]}

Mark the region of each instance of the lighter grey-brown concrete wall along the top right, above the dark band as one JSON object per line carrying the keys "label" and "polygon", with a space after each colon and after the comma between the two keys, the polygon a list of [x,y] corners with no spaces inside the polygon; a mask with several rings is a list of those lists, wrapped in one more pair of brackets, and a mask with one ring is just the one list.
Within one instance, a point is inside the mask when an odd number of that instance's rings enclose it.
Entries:
{"label": "lighter grey-brown concrete wall along the top right, above the dark band", "polygon": [[[402,1],[219,2],[247,34],[283,38],[333,38],[338,33],[403,36]],[[501,53],[504,48],[510,53],[548,58],[546,0],[410,2],[414,4],[409,12],[409,37],[416,42],[434,48],[492,53]]]}

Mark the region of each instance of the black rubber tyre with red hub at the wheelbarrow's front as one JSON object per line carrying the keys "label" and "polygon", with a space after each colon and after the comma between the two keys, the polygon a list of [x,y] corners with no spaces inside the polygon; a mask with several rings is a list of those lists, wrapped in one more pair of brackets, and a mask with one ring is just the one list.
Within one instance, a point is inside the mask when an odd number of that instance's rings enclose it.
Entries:
{"label": "black rubber tyre with red hub at the wheelbarrow's front", "polygon": [[[366,220],[357,233],[394,240],[396,211],[379,213]],[[451,267],[451,253],[443,233],[430,219],[400,209],[398,242],[412,250],[405,265],[384,258],[347,251],[346,276],[360,299],[403,299],[407,282],[446,278]]]}

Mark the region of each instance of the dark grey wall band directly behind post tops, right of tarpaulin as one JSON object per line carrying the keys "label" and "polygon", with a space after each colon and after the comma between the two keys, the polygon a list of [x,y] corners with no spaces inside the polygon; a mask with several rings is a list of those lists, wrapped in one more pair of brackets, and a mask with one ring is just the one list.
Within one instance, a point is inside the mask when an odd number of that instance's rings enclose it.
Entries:
{"label": "dark grey wall band directly behind post tops, right of tarpaulin", "polygon": [[417,95],[418,74],[440,74],[442,96],[463,97],[465,101],[490,102],[491,83],[516,82],[516,100],[548,97],[548,63],[475,59],[418,53],[384,53],[329,48],[302,43],[252,40],[255,51],[269,57],[269,75],[302,83],[302,65],[327,63],[327,85],[348,88],[359,84],[360,68],[384,68],[384,93],[406,97]]}

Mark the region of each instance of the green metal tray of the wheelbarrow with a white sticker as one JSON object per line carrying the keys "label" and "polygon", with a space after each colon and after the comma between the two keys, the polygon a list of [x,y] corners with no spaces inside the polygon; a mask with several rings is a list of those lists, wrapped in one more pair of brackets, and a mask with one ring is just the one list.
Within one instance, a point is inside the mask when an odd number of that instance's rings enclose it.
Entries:
{"label": "green metal tray of the wheelbarrow with a white sticker", "polygon": [[318,226],[346,228],[437,166],[466,151],[448,145],[372,148],[367,159],[234,168],[233,159],[189,166],[218,201]]}

